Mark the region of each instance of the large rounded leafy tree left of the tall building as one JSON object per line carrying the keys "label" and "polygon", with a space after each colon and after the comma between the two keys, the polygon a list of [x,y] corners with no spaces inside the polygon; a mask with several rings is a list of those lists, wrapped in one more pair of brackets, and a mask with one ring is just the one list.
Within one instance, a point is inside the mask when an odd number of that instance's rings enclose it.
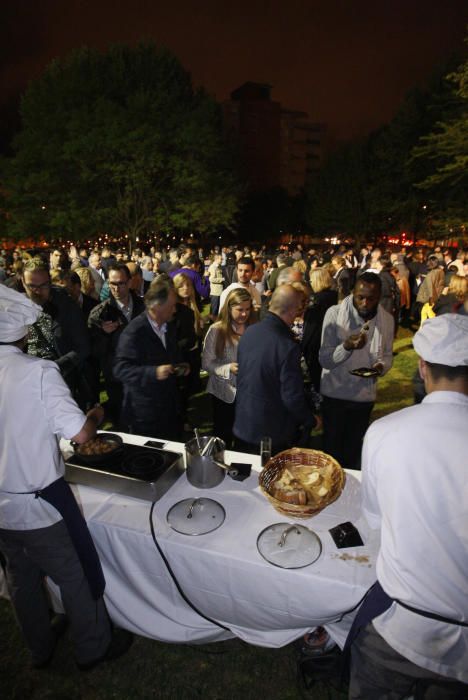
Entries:
{"label": "large rounded leafy tree left of the tall building", "polygon": [[233,225],[240,188],[218,105],[153,43],[82,48],[26,92],[2,163],[11,235]]}

